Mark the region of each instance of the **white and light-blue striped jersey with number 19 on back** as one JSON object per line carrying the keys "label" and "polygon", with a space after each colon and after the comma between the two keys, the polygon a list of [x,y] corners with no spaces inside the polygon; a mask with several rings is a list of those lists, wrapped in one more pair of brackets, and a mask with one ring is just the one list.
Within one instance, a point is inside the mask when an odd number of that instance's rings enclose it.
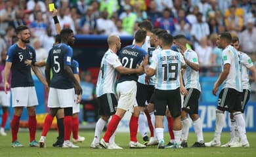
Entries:
{"label": "white and light-blue striped jersey with number 19 on back", "polygon": [[156,70],[156,89],[175,90],[180,87],[179,73],[186,65],[180,52],[161,50],[152,58],[150,68]]}

